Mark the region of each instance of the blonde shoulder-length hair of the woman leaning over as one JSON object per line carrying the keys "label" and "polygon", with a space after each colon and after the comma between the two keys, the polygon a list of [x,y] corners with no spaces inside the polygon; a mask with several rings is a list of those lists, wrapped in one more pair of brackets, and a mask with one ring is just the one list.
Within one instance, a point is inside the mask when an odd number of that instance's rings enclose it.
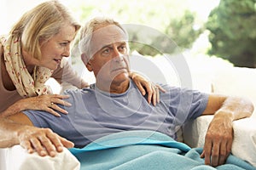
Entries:
{"label": "blonde shoulder-length hair of the woman leaning over", "polygon": [[23,14],[10,34],[20,38],[22,49],[32,57],[41,59],[39,41],[42,39],[47,41],[54,37],[65,23],[74,26],[76,34],[81,27],[68,8],[53,0],[40,3]]}

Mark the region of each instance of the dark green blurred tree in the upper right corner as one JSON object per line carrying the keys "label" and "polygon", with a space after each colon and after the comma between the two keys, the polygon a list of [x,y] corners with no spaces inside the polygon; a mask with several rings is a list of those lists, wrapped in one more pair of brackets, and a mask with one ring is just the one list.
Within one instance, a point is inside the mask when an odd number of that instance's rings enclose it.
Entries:
{"label": "dark green blurred tree in the upper right corner", "polygon": [[256,1],[221,0],[207,21],[209,54],[236,66],[256,67]]}

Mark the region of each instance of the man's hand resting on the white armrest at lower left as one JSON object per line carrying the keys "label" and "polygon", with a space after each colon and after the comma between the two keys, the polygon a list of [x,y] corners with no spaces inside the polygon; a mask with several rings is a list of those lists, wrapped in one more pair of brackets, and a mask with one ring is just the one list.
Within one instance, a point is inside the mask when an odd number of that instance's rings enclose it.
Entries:
{"label": "man's hand resting on the white armrest at lower left", "polygon": [[18,130],[16,143],[28,153],[38,152],[39,156],[55,156],[63,147],[72,148],[73,143],[52,132],[49,128],[23,126]]}

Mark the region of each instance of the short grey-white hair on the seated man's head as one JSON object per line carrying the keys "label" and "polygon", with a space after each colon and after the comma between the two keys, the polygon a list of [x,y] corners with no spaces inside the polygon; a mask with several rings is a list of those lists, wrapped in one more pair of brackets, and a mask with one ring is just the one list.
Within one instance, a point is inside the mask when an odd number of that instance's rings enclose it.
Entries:
{"label": "short grey-white hair on the seated man's head", "polygon": [[88,57],[90,56],[90,41],[92,37],[92,33],[97,31],[105,26],[119,26],[119,28],[125,32],[125,35],[128,37],[125,28],[119,24],[118,21],[115,21],[111,18],[98,16],[91,20],[89,20],[85,25],[84,28],[81,30],[81,36],[79,41],[79,50],[81,54],[86,54]]}

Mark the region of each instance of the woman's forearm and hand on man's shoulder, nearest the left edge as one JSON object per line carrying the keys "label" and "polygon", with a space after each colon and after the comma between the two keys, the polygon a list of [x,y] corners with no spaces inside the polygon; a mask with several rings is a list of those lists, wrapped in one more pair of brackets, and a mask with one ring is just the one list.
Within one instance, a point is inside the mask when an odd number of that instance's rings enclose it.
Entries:
{"label": "woman's forearm and hand on man's shoulder, nearest the left edge", "polygon": [[63,100],[67,99],[68,97],[68,95],[61,94],[45,94],[37,97],[20,99],[14,105],[9,106],[7,110],[3,111],[0,116],[10,116],[25,110],[48,111],[54,116],[61,116],[56,111],[60,111],[63,114],[67,114],[67,111],[62,109],[57,104],[71,106],[70,103]]}

